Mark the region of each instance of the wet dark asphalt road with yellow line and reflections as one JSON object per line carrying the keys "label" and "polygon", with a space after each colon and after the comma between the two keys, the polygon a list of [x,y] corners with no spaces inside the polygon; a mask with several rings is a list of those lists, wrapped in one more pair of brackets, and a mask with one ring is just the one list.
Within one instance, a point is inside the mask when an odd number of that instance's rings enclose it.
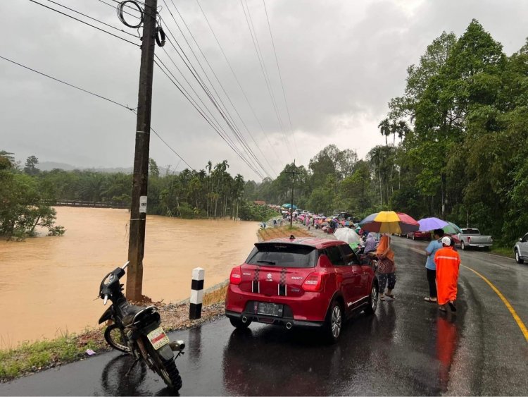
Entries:
{"label": "wet dark asphalt road with yellow line and reflections", "polygon": [[[527,395],[528,341],[491,287],[462,267],[458,312],[440,314],[423,298],[426,243],[393,238],[397,298],[375,316],[358,314],[341,341],[225,318],[170,334],[187,341],[177,360],[182,396],[211,395]],[[460,252],[460,251],[459,251]],[[460,252],[509,300],[528,325],[528,265],[486,252]],[[106,353],[0,385],[0,395],[170,395],[163,381],[131,360]]]}

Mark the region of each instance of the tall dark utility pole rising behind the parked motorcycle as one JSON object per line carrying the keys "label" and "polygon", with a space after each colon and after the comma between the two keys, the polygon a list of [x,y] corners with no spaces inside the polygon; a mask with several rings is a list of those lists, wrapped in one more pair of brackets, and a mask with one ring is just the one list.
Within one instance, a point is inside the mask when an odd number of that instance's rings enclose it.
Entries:
{"label": "tall dark utility pole rising behind the parked motorcycle", "polygon": [[129,300],[142,300],[143,255],[145,248],[146,191],[149,179],[149,145],[151,131],[152,76],[156,46],[156,8],[158,0],[145,0],[142,37],[142,59],[139,69],[137,98],[136,151],[132,178],[132,207],[128,239],[126,295]]}

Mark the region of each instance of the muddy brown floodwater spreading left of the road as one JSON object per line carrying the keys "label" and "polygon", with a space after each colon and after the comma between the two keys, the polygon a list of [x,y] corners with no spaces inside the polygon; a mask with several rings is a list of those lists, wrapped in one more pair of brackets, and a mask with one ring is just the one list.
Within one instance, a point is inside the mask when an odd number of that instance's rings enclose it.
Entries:
{"label": "muddy brown floodwater spreading left of the road", "polygon": [[[126,209],[57,207],[61,237],[0,241],[0,347],[96,326],[106,307],[95,299],[108,271],[127,261]],[[154,301],[189,298],[191,273],[205,288],[229,277],[256,242],[256,222],[147,216],[143,293]]]}

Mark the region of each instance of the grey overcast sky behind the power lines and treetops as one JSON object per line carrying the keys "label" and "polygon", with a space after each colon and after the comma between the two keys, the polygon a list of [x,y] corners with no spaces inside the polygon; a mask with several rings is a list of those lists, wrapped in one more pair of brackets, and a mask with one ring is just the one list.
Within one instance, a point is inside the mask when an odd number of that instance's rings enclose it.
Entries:
{"label": "grey overcast sky behind the power lines and treetops", "polygon": [[[75,15],[50,1],[37,1]],[[137,35],[136,30],[120,23],[115,8],[100,0],[54,1]],[[116,5],[112,0],[103,1]],[[169,11],[184,29],[180,16],[171,1],[165,1],[168,8],[163,0],[158,0],[158,5],[163,6],[160,14],[165,31],[172,32],[204,76]],[[241,1],[199,1],[256,116],[196,0],[175,1],[199,49],[187,30],[185,37],[263,164],[265,171],[257,166],[260,173],[267,172],[273,178],[294,159],[296,164],[308,166],[310,158],[332,143],[339,149],[356,149],[359,157],[384,143],[377,124],[386,116],[387,102],[403,94],[406,68],[417,63],[427,45],[443,30],[460,37],[472,18],[477,18],[503,44],[507,55],[520,49],[528,36],[528,1],[524,0],[265,0],[287,97],[290,129],[263,1],[244,0],[244,5],[247,1],[282,128]],[[0,56],[132,108],[137,106],[138,47],[28,0],[1,0],[0,19]],[[139,43],[137,37],[94,24]],[[169,33],[168,37],[172,39]],[[185,73],[175,49],[169,43],[163,49]],[[156,47],[156,54],[190,91],[163,49]],[[199,54],[200,49],[229,99]],[[189,73],[185,76],[221,121],[196,81]],[[41,162],[58,161],[80,167],[132,166],[136,119],[131,111],[3,59],[0,83],[0,150],[14,152],[23,162],[34,154]],[[208,160],[216,164],[227,159],[232,174],[241,173],[246,179],[260,181],[157,67],[153,76],[152,126],[194,169],[204,169]],[[234,140],[225,123],[222,126]],[[186,167],[155,135],[151,136],[150,157],[159,166],[170,164],[180,171]]]}

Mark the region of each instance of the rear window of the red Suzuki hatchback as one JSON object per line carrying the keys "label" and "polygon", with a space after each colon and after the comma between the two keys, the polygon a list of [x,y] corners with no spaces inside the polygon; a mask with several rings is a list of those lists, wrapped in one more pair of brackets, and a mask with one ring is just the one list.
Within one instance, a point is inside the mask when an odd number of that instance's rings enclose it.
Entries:
{"label": "rear window of the red Suzuki hatchback", "polygon": [[318,251],[309,245],[257,243],[247,264],[277,267],[315,267]]}

